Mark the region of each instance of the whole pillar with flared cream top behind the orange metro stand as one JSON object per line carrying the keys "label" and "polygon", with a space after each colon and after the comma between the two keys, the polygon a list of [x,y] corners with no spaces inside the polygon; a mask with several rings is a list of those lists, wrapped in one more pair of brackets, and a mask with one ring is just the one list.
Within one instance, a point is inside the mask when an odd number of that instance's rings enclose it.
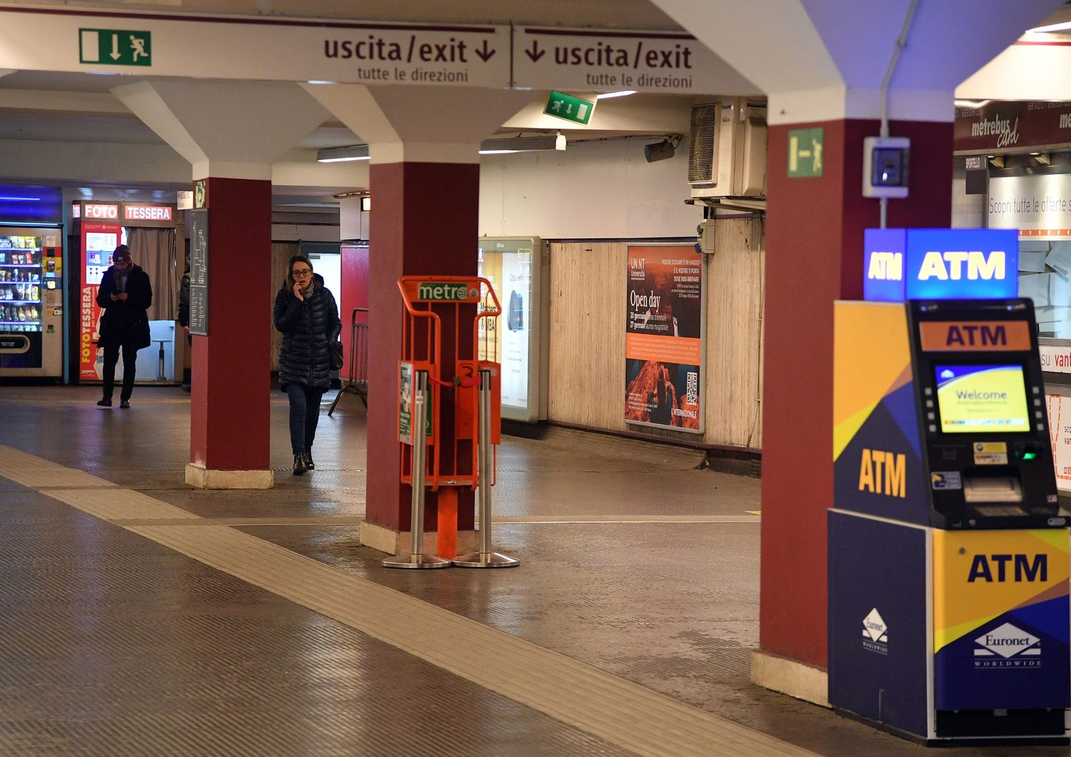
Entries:
{"label": "whole pillar with flared cream top behind the orange metro stand", "polygon": [[[351,85],[305,89],[371,148],[368,474],[361,542],[394,555],[408,549],[412,527],[397,440],[404,307],[396,282],[407,274],[476,275],[479,145],[531,93]],[[462,357],[468,357],[471,327],[470,319],[461,324]],[[453,340],[444,327],[444,365],[453,363]],[[453,419],[448,413],[442,421],[443,438],[450,438]],[[437,503],[429,491],[422,525],[429,554],[437,548],[429,533],[437,528]],[[457,513],[457,549],[465,552],[476,546],[472,491],[458,490]]]}

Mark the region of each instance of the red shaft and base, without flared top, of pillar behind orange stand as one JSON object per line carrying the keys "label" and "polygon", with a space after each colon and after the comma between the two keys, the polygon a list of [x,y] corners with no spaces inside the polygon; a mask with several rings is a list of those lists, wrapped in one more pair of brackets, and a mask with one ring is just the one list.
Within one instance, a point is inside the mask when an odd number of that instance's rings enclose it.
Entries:
{"label": "red shaft and base, without flared top, of pillar behind orange stand", "polygon": [[[396,554],[399,547],[408,549],[399,544],[398,534],[409,530],[411,497],[409,486],[401,483],[397,438],[397,363],[405,312],[397,279],[409,274],[477,274],[480,167],[474,163],[373,163],[371,184],[376,207],[368,240],[368,473],[361,541]],[[452,366],[453,333],[443,325],[443,362]],[[464,327],[468,331],[461,339],[463,350],[472,338],[471,323]],[[448,375],[444,369],[443,376]],[[451,419],[447,418],[443,438],[450,432]],[[462,550],[472,546],[464,532],[471,534],[473,514],[472,493],[463,489],[457,524]],[[436,529],[436,497],[428,491],[425,530]]]}

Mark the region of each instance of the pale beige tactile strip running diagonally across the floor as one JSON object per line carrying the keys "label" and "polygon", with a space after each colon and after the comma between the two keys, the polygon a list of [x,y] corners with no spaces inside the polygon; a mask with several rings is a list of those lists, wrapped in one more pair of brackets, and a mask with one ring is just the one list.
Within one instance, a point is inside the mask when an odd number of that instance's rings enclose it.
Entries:
{"label": "pale beige tactile strip running diagonally across the floor", "polygon": [[[13,478],[12,459],[0,448],[0,475]],[[40,490],[636,754],[812,754],[137,491]]]}

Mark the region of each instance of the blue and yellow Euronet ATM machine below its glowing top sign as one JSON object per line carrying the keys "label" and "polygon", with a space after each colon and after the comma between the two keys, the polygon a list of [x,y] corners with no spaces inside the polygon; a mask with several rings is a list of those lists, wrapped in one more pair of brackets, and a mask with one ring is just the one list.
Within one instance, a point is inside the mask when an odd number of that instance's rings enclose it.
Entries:
{"label": "blue and yellow Euronet ATM machine below its glowing top sign", "polygon": [[1071,518],[1032,303],[834,308],[830,703],[927,744],[1067,744]]}

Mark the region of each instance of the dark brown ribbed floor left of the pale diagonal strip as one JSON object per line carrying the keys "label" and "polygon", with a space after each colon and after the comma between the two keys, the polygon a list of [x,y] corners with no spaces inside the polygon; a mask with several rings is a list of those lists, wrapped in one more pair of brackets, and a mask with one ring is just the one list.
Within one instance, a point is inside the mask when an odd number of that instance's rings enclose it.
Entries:
{"label": "dark brown ribbed floor left of the pale diagonal strip", "polygon": [[5,755],[625,754],[28,493],[0,529]]}

